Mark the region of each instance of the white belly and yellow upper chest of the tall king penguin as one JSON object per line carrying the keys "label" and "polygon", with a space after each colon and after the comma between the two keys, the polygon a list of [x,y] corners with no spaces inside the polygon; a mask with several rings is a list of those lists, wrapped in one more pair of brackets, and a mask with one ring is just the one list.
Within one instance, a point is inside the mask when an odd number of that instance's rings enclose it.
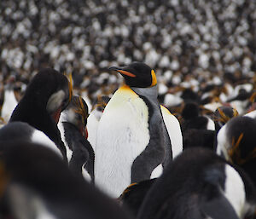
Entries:
{"label": "white belly and yellow upper chest of the tall king penguin", "polygon": [[148,107],[129,87],[105,108],[96,137],[96,186],[113,198],[131,183],[131,165],[149,142]]}

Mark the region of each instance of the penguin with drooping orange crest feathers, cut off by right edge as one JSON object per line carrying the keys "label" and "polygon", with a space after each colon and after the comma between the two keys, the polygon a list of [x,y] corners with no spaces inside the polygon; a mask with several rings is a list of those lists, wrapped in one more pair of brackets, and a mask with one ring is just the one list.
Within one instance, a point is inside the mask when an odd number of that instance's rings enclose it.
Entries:
{"label": "penguin with drooping orange crest feathers, cut off by right edge", "polygon": [[256,119],[255,112],[231,118],[217,135],[217,153],[239,165],[252,178],[256,186]]}

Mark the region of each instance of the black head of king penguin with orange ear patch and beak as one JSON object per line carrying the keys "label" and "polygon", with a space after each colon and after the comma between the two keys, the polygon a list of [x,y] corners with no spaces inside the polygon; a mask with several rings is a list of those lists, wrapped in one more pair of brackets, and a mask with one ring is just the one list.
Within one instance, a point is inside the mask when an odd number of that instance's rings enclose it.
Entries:
{"label": "black head of king penguin with orange ear patch and beak", "polygon": [[148,88],[157,84],[155,72],[142,62],[133,62],[128,66],[112,66],[109,70],[119,72],[130,87]]}

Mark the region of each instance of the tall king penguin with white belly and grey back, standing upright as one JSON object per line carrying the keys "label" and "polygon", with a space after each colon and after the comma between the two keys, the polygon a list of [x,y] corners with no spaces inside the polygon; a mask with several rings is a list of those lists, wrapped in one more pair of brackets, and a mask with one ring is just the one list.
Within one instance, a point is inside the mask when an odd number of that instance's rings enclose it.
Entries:
{"label": "tall king penguin with white belly and grey back, standing upright", "polygon": [[119,197],[132,182],[150,178],[172,160],[170,137],[157,100],[157,80],[149,66],[134,62],[110,67],[125,78],[108,101],[96,137],[96,186]]}

